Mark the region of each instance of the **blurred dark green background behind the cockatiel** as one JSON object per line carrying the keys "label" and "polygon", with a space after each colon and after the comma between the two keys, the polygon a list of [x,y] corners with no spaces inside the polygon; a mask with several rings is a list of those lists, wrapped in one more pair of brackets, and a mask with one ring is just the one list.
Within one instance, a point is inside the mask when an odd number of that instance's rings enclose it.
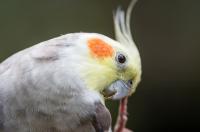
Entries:
{"label": "blurred dark green background behind the cockatiel", "polygon": [[[61,34],[97,32],[114,38],[112,12],[129,2],[1,0],[0,61]],[[200,131],[200,1],[139,0],[131,27],[143,76],[129,100],[128,128]],[[115,120],[118,103],[107,105]]]}

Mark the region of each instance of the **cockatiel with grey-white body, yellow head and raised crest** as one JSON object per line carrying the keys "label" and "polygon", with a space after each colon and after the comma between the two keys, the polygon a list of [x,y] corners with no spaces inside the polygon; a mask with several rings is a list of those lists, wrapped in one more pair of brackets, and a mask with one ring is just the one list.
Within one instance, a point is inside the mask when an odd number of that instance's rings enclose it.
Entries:
{"label": "cockatiel with grey-white body, yellow head and raised crest", "polygon": [[106,132],[104,99],[131,95],[141,76],[130,5],[114,15],[115,41],[71,33],[20,51],[0,64],[0,132]]}

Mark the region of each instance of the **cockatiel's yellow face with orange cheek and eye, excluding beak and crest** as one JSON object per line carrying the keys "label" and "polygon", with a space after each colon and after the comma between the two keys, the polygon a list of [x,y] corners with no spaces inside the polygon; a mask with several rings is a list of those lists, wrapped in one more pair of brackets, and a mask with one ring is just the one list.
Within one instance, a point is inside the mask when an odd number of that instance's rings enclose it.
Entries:
{"label": "cockatiel's yellow face with orange cheek and eye, excluding beak and crest", "polygon": [[115,81],[122,80],[130,87],[129,94],[133,93],[141,76],[138,56],[113,40],[91,38],[87,45],[88,59],[82,70],[86,85],[102,92]]}

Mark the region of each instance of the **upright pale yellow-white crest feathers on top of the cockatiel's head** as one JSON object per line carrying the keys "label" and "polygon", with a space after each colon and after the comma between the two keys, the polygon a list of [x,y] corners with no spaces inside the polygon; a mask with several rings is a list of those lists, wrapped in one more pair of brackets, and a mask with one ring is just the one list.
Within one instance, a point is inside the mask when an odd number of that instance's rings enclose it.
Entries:
{"label": "upright pale yellow-white crest feathers on top of the cockatiel's head", "polygon": [[[114,14],[114,28],[116,40],[122,44],[135,46],[130,29],[131,12],[137,0],[132,0],[126,13],[120,7]],[[135,46],[136,47],[136,46]]]}

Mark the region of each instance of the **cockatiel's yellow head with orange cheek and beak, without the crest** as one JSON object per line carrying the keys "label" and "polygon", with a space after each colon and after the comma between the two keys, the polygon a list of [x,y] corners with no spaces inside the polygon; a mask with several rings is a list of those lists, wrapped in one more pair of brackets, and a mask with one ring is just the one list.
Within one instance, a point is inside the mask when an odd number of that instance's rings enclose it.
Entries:
{"label": "cockatiel's yellow head with orange cheek and beak, without the crest", "polygon": [[84,43],[87,55],[80,62],[80,73],[90,89],[114,99],[135,91],[141,78],[141,62],[134,45],[93,33],[85,35]]}

